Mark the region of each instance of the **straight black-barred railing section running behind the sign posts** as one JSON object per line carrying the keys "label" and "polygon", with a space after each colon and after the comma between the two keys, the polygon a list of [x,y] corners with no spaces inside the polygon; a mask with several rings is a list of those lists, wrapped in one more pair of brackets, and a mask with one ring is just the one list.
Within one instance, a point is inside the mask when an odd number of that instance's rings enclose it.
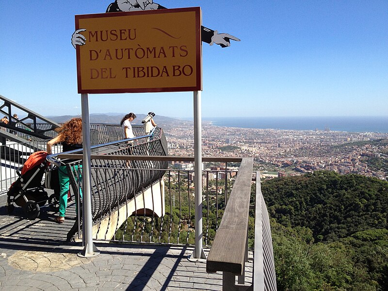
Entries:
{"label": "straight black-barred railing section running behind the sign posts", "polygon": [[[70,158],[71,155],[60,155],[62,158]],[[77,157],[74,156],[73,157]],[[78,155],[78,158],[81,158],[81,155]],[[114,161],[123,161],[132,162],[168,162],[168,161],[184,161],[184,162],[194,162],[192,157],[171,157],[171,156],[129,156],[129,155],[92,155],[93,160],[102,160],[104,163],[101,166],[92,166],[92,172],[98,175],[99,181],[103,182],[105,180],[111,179],[111,182],[105,185],[100,185],[106,191],[108,188],[112,189],[110,193],[113,196],[105,196],[105,205],[104,208],[111,210],[105,213],[103,219],[105,222],[103,224],[106,227],[106,220],[111,222],[110,224],[110,233],[112,227],[115,229],[115,233],[112,236],[107,236],[105,239],[102,235],[97,235],[95,238],[99,240],[114,240],[114,241],[124,241],[124,242],[145,242],[145,243],[168,243],[173,245],[193,245],[194,244],[194,170],[174,170],[174,169],[159,169],[160,175],[162,176],[163,172],[165,174],[159,180],[153,183],[153,187],[146,189],[141,188],[139,192],[136,193],[136,197],[140,198],[140,202],[132,200],[132,206],[122,205],[120,206],[118,212],[113,210],[117,209],[118,203],[120,200],[119,192],[122,189],[124,191],[129,191],[126,188],[126,182],[120,184],[121,177],[130,176],[131,173],[139,171],[143,175],[146,172],[155,172],[154,169],[134,169],[131,167],[110,167],[108,170],[104,166],[114,165]],[[228,162],[239,162],[241,158],[209,158],[204,157],[204,162],[218,163],[220,165],[225,165]],[[94,163],[95,165],[97,163]],[[120,163],[119,163],[120,164]],[[127,172],[127,173],[123,173]],[[206,170],[202,173],[202,198],[203,198],[203,229],[204,229],[204,243],[205,245],[211,245],[214,239],[215,231],[217,230],[221,218],[223,216],[225,206],[228,201],[228,196],[232,190],[234,179],[237,177],[237,170]],[[256,173],[253,173],[255,176]],[[94,174],[93,174],[94,175]],[[151,174],[147,174],[151,175]],[[107,177],[117,177],[113,178]],[[156,178],[158,178],[155,177]],[[211,178],[210,178],[211,177]],[[256,180],[256,179],[255,179]],[[114,185],[113,185],[114,184]],[[106,186],[108,185],[108,186]],[[227,185],[227,186],[226,186]],[[128,187],[128,185],[127,185]],[[153,190],[152,190],[153,189]],[[154,202],[161,202],[161,194],[159,189],[164,189],[164,199],[162,203],[154,205]],[[133,191],[133,190],[132,190]],[[146,207],[141,201],[142,197],[145,197],[151,194],[152,204],[148,204]],[[103,199],[101,190],[94,191],[97,199]],[[117,197],[114,197],[116,195]],[[142,196],[139,196],[142,195]],[[127,197],[133,197],[127,196]],[[128,198],[125,199],[128,200]],[[125,199],[123,199],[125,201]],[[149,196],[148,196],[149,199]],[[133,202],[134,208],[133,208]],[[94,203],[94,202],[93,202]],[[153,207],[156,208],[153,208]],[[162,206],[163,211],[162,216],[158,217],[158,210]],[[159,208],[158,208],[159,207]],[[102,209],[102,207],[101,207]],[[146,210],[151,210],[146,213]],[[94,210],[95,211],[95,210]],[[139,212],[139,213],[138,213]],[[118,216],[125,216],[125,223],[123,225],[122,221],[118,222]],[[100,216],[101,217],[101,216]],[[128,218],[128,219],[127,219]],[[102,217],[100,218],[102,219]],[[95,222],[99,223],[101,226],[100,219],[95,219]],[[117,220],[117,221],[116,221]],[[102,228],[104,228],[102,227]],[[105,228],[104,228],[105,229]],[[103,232],[105,230],[102,230]],[[98,233],[101,234],[101,230],[98,230]],[[98,238],[97,238],[98,237]]]}

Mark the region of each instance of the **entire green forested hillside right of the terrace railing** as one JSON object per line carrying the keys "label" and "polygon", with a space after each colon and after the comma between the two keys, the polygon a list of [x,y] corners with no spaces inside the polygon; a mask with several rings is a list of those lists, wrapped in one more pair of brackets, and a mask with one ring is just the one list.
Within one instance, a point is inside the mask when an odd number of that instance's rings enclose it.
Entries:
{"label": "entire green forested hillside right of the terrace railing", "polygon": [[261,190],[279,291],[388,290],[388,182],[318,171]]}

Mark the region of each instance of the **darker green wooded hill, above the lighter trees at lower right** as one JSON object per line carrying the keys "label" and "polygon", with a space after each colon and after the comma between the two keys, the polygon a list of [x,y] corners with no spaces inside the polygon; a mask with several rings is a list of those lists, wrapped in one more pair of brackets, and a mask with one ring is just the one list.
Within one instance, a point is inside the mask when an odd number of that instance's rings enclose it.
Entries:
{"label": "darker green wooded hill, above the lighter trees at lower right", "polygon": [[357,231],[387,228],[388,182],[317,171],[262,184],[268,212],[283,226],[306,226],[315,240],[337,241]]}

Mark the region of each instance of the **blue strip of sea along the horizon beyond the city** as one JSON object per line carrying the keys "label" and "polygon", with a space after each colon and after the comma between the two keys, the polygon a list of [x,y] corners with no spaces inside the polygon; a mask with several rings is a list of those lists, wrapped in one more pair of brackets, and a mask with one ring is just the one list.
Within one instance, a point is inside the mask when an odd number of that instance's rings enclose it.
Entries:
{"label": "blue strip of sea along the horizon beyond the city", "polygon": [[248,129],[293,129],[388,133],[388,116],[320,117],[212,117],[202,118],[215,126]]}

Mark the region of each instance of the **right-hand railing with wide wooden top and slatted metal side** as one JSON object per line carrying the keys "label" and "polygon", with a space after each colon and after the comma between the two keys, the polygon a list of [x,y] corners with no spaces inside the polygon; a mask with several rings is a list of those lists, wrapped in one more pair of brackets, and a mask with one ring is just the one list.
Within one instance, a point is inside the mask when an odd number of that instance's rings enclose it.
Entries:
{"label": "right-hand railing with wide wooden top and slatted metal side", "polygon": [[[247,261],[248,216],[252,164],[242,164],[217,229],[207,260],[206,271],[223,272],[223,290],[276,291],[274,251],[271,226],[263,195],[260,173],[256,173],[255,255],[252,285],[244,285],[244,267]],[[250,172],[249,172],[250,171]],[[243,210],[243,211],[242,211]],[[235,275],[239,275],[235,285]],[[242,284],[242,285],[241,285]]]}

